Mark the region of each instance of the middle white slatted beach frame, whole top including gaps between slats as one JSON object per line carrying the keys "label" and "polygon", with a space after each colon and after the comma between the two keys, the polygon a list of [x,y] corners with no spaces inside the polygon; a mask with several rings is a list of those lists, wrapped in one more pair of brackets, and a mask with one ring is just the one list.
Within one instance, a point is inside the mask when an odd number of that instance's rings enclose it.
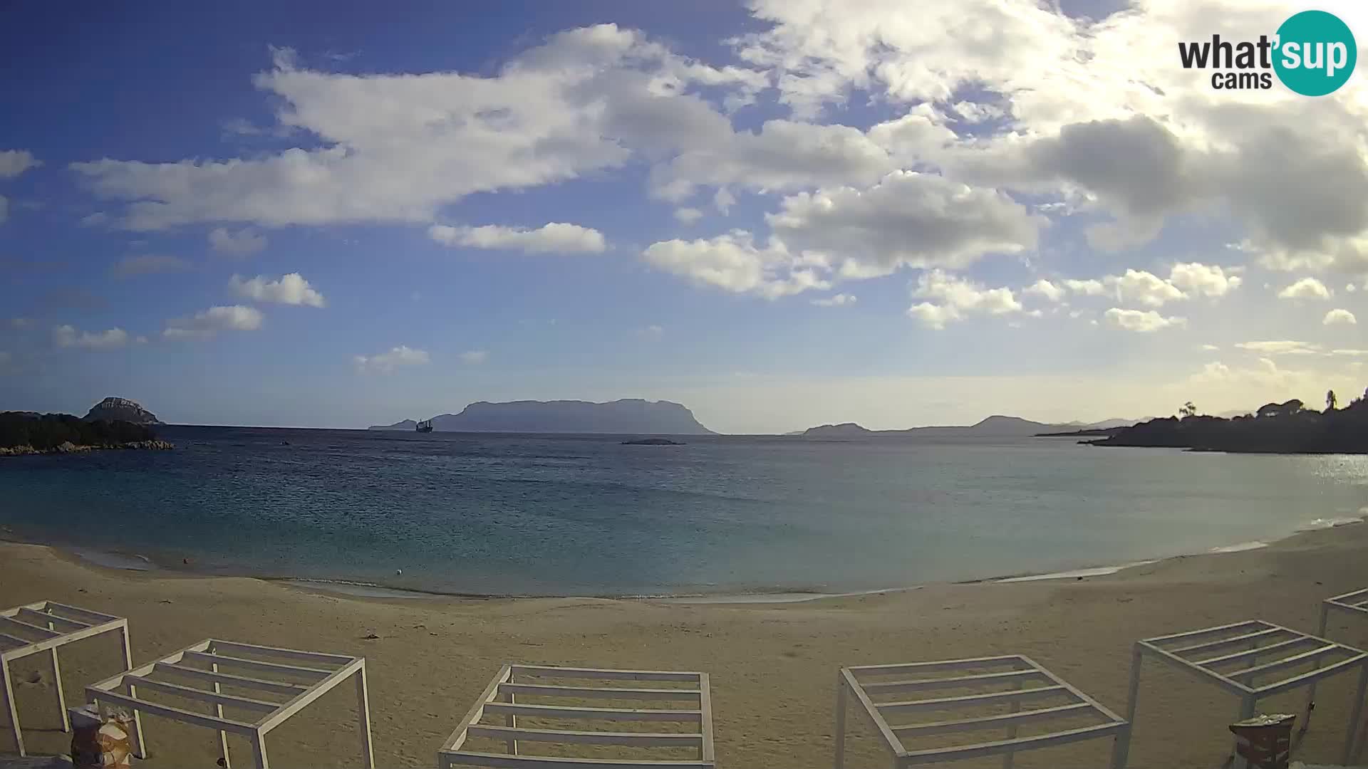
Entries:
{"label": "middle white slatted beach frame, whole top including gaps between slats", "polygon": [[[570,757],[528,753],[529,743],[594,747]],[[713,769],[707,673],[503,665],[442,743],[438,766]]]}

